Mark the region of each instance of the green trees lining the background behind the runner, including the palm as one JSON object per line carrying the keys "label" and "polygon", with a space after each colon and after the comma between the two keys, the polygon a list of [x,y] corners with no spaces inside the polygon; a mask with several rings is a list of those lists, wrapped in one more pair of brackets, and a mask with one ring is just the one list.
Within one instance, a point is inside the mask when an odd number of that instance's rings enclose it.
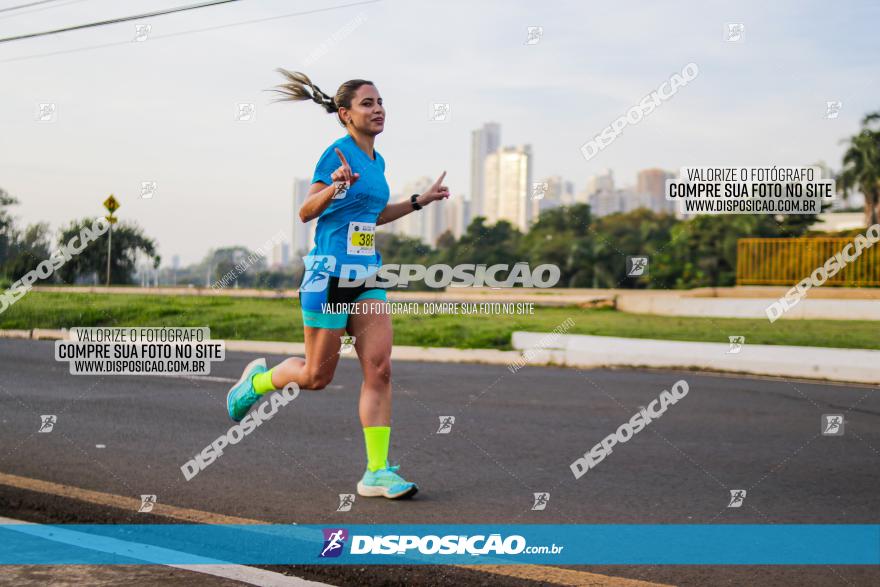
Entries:
{"label": "green trees lining the background behind the runner, including the palm", "polygon": [[[865,197],[869,225],[880,218],[880,111],[862,119],[858,134],[845,139],[843,165],[837,186],[846,198],[854,191]],[[0,285],[8,285],[49,258],[53,247],[66,244],[93,219],[73,220],[53,242],[46,223],[19,227],[11,213],[17,200],[0,188]],[[680,289],[730,286],[736,280],[737,240],[743,237],[792,237],[809,233],[815,216],[720,215],[678,220],[669,214],[639,209],[601,218],[578,204],[545,210],[528,233],[508,222],[487,225],[476,218],[455,238],[444,233],[434,246],[405,236],[379,233],[377,247],[387,263],[431,265],[551,263],[560,268],[558,287]],[[64,264],[51,283],[104,283],[107,238],[103,235]],[[645,275],[626,275],[627,256],[648,256]],[[133,223],[113,227],[111,281],[131,284],[139,259],[154,267],[161,261],[155,241]],[[243,259],[256,258],[242,268]],[[224,276],[231,287],[292,288],[302,277],[302,265],[270,269],[264,255],[233,246],[210,251],[200,263],[163,270],[163,284],[210,287]],[[172,276],[173,274],[173,276]],[[415,286],[415,284],[414,284]],[[417,287],[417,286],[416,286]]]}

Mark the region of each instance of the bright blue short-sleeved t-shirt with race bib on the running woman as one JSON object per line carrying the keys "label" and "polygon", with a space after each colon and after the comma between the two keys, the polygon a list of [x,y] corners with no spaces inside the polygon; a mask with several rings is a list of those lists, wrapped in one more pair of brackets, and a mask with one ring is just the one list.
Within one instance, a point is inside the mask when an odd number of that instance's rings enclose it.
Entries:
{"label": "bright blue short-sleeved t-shirt with race bib on the running woman", "polygon": [[312,183],[333,183],[330,175],[342,164],[334,150],[337,148],[345,155],[352,173],[360,176],[343,197],[331,200],[321,212],[315,230],[315,247],[309,256],[332,255],[335,263],[331,264],[332,269],[327,269],[333,276],[340,275],[343,265],[358,265],[366,273],[373,273],[382,264],[382,255],[376,250],[375,224],[390,196],[385,181],[385,159],[375,149],[375,159],[370,159],[352,136],[346,134],[321,155]]}

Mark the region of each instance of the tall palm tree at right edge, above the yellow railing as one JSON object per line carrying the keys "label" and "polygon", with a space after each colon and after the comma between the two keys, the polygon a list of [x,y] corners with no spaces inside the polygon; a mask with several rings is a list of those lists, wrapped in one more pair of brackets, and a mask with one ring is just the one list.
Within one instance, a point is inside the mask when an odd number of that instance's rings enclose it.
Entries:
{"label": "tall palm tree at right edge, above the yellow railing", "polygon": [[862,132],[849,138],[849,147],[843,154],[843,170],[838,177],[844,198],[854,188],[864,194],[868,226],[877,224],[880,211],[880,131],[871,128],[877,122],[880,122],[880,111],[862,119]]}

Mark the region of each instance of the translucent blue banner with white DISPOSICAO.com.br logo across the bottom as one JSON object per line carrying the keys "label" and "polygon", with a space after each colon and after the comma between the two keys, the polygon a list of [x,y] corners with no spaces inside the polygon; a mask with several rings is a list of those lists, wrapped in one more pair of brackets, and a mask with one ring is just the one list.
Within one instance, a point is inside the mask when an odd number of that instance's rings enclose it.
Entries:
{"label": "translucent blue banner with white DISPOSICAO.com.br logo across the bottom", "polygon": [[0,564],[877,565],[878,524],[2,524]]}

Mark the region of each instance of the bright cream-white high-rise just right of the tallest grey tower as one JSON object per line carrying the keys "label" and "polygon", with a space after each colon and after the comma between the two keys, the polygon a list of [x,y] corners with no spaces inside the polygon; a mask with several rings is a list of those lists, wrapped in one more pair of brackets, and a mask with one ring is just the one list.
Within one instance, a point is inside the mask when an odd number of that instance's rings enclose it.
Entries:
{"label": "bright cream-white high-rise just right of the tallest grey tower", "polygon": [[532,148],[503,147],[486,157],[483,216],[488,224],[507,220],[526,232],[532,221]]}

